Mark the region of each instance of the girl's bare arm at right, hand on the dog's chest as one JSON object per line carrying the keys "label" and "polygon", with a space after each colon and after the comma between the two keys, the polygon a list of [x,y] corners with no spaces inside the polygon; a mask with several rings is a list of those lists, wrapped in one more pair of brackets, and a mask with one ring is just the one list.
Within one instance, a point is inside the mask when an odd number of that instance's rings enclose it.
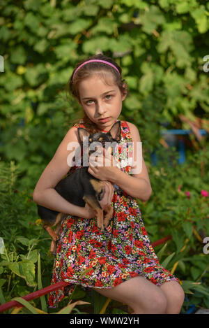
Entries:
{"label": "girl's bare arm at right, hand on the dog's chest", "polygon": [[150,185],[150,179],[144,159],[142,156],[140,157],[140,154],[137,154],[137,142],[141,143],[139,131],[134,124],[130,122],[128,122],[128,124],[134,146],[134,162],[138,161],[138,164],[140,164],[139,161],[141,161],[141,172],[132,173],[132,176],[130,176],[121,171],[117,166],[95,167],[91,163],[89,163],[88,172],[95,176],[95,178],[109,180],[111,183],[115,183],[118,187],[121,187],[123,191],[134,198],[140,199],[141,201],[148,201],[152,194],[152,187]]}

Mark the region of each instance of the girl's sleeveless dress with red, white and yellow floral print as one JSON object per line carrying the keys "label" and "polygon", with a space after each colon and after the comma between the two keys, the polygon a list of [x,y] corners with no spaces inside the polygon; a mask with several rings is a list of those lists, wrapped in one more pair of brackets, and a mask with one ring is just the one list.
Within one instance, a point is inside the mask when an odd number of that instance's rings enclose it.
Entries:
{"label": "girl's sleeveless dress with red, white and yellow floral print", "polygon": [[[80,121],[75,127],[84,127]],[[104,130],[103,130],[104,131]],[[107,132],[107,131],[104,131]],[[117,166],[130,174],[130,166],[121,149],[131,143],[132,138],[127,122],[121,121],[121,141],[118,143]],[[71,171],[82,167],[72,166]],[[111,201],[114,213],[107,228],[100,232],[95,220],[65,215],[59,232],[52,285],[64,280],[70,285],[49,294],[49,307],[56,307],[65,296],[70,296],[76,285],[84,290],[112,288],[135,276],[144,276],[155,285],[177,281],[164,269],[155,255],[137,199],[130,197],[114,184]]]}

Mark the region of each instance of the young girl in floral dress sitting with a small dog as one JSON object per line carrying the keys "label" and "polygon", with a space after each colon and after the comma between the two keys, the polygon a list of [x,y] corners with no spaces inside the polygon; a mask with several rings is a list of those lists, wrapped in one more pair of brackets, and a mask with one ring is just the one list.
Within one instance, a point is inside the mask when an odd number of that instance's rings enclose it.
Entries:
{"label": "young girl in floral dress sitting with a small dog", "polygon": [[[67,213],[57,243],[52,284],[65,280],[70,285],[52,292],[49,306],[57,306],[76,285],[82,285],[127,304],[132,313],[180,313],[183,289],[178,278],[160,265],[137,204],[137,199],[148,201],[152,192],[143,158],[141,172],[134,174],[131,166],[124,166],[120,153],[117,166],[113,162],[111,166],[89,163],[92,176],[109,182],[104,183],[102,206],[114,206],[114,214],[103,232],[98,230],[91,208],[70,204],[54,190],[69,169],[71,172],[82,166],[81,163],[69,167],[67,163],[67,145],[78,142],[77,128],[84,127],[91,133],[108,132],[118,121],[127,95],[121,68],[104,55],[88,57],[77,64],[68,87],[84,109],[84,117],[69,129],[33,192],[36,203]],[[137,127],[122,120],[119,144],[132,142],[136,150],[140,141]],[[134,151],[134,159],[140,160],[136,154]],[[73,215],[79,219],[75,221]]]}

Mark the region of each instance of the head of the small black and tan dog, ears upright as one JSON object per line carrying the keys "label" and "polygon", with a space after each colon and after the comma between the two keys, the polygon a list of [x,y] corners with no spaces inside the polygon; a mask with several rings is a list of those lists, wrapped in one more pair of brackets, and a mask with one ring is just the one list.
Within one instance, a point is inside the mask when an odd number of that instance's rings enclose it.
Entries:
{"label": "head of the small black and tan dog, ears upright", "polygon": [[79,127],[77,131],[80,143],[84,143],[84,138],[87,137],[86,145],[88,146],[88,155],[91,155],[95,151],[102,153],[102,148],[110,150],[111,155],[113,155],[113,147],[115,143],[118,143],[118,141],[121,140],[120,121],[116,122],[107,133],[96,132],[95,134],[90,134],[82,127]]}

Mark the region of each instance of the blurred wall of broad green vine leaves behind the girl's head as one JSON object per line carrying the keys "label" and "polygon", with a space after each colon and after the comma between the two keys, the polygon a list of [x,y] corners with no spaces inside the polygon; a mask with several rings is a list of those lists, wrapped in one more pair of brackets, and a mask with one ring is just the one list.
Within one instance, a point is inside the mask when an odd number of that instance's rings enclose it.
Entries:
{"label": "blurred wall of broad green vine leaves behind the girl's head", "polygon": [[163,122],[208,118],[208,10],[196,0],[1,1],[0,156],[20,164],[19,189],[32,192],[79,116],[65,85],[95,52],[121,65],[130,91],[121,117],[150,151]]}

